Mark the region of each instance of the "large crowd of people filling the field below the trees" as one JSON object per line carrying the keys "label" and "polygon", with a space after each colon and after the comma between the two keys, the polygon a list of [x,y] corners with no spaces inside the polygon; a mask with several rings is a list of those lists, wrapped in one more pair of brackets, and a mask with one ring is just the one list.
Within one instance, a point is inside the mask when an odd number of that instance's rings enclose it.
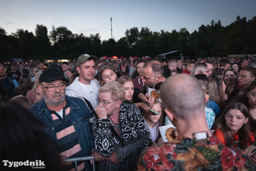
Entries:
{"label": "large crowd of people filling the field below the trees", "polygon": [[[72,170],[64,159],[83,156],[94,156],[97,170],[254,170],[255,66],[246,58],[110,62],[88,54],[1,64],[0,122],[17,129],[1,129],[0,158],[45,160],[47,170]],[[164,125],[173,127],[167,143]]]}

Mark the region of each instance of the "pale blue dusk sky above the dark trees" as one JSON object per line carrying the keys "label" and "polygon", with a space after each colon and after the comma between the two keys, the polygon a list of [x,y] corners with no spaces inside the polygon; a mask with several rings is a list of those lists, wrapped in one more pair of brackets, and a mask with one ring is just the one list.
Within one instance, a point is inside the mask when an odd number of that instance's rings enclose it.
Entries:
{"label": "pale blue dusk sky above the dark trees", "polygon": [[255,0],[214,1],[55,1],[55,0],[1,0],[0,27],[8,34],[17,29],[35,33],[36,24],[44,25],[48,34],[52,26],[65,26],[73,34],[90,36],[99,33],[102,40],[117,41],[125,36],[126,29],[148,27],[151,31],[172,32],[187,28],[194,32],[211,20],[223,26],[236,20],[237,15],[251,20],[256,16]]}

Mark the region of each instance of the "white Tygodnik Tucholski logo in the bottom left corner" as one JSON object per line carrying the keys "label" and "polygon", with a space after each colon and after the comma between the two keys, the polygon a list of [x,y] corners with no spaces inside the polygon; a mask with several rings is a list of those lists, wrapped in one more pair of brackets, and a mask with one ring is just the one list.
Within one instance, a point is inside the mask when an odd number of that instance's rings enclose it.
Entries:
{"label": "white Tygodnik Tucholski logo in the bottom left corner", "polygon": [[31,166],[32,168],[45,168],[44,161],[41,160],[36,160],[36,161],[8,161],[8,160],[3,160],[4,166],[8,167],[18,167],[18,166]]}

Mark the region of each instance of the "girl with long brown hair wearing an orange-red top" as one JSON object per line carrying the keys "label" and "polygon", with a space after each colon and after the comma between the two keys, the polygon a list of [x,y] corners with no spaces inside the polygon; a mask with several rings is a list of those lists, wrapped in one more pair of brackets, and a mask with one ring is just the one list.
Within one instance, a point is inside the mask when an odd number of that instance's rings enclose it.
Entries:
{"label": "girl with long brown hair wearing an orange-red top", "polygon": [[[240,102],[231,102],[214,123],[213,135],[228,147],[245,148],[254,142],[254,137],[250,132],[249,117],[246,106]],[[241,140],[239,146],[235,143],[238,140]]]}

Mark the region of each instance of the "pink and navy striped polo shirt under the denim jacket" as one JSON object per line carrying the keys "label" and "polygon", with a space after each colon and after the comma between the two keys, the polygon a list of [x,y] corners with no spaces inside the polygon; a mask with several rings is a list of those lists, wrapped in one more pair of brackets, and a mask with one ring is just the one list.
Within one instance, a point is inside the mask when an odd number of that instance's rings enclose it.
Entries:
{"label": "pink and navy striped polo shirt under the denim jacket", "polygon": [[[83,157],[76,131],[69,119],[70,106],[68,101],[66,100],[66,105],[62,110],[62,118],[54,110],[49,110],[49,112],[55,125],[59,155],[67,156],[68,158]],[[66,166],[65,170],[75,170],[74,168],[75,165],[72,163],[70,166]],[[78,170],[83,170],[84,162],[78,161],[77,168]]]}

